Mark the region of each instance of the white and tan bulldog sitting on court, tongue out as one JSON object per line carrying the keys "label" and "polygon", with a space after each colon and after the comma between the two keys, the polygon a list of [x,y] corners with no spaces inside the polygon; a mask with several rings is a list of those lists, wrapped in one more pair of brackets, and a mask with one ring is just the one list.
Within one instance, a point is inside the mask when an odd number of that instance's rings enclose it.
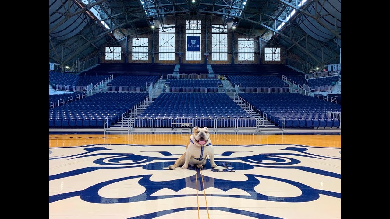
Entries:
{"label": "white and tan bulldog sitting on court, tongue out", "polygon": [[173,170],[181,165],[183,165],[182,169],[187,169],[188,164],[191,166],[197,165],[197,168],[202,169],[206,164],[207,155],[210,157],[211,167],[216,167],[209,129],[207,127],[195,127],[194,133],[190,137],[190,143],[187,145],[187,151],[176,160],[175,164],[169,166],[169,169]]}

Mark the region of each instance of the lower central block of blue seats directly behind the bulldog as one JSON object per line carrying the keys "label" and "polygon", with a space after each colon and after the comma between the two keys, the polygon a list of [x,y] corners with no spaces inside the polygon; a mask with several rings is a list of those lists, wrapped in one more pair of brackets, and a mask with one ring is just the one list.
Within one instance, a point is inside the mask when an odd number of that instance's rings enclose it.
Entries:
{"label": "lower central block of blue seats directly behind the bulldog", "polygon": [[[226,94],[202,93],[163,93],[138,117],[253,118]],[[140,125],[136,122],[135,126]],[[233,120],[233,126],[234,123]],[[217,125],[220,125],[218,121]],[[252,127],[255,126],[256,122],[254,120]]]}

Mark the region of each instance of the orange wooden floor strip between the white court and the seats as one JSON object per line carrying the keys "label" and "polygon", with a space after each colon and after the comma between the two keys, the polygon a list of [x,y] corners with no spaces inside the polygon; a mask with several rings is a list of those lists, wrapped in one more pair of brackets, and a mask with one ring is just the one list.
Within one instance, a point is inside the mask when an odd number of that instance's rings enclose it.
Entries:
{"label": "orange wooden floor strip between the white court and the seats", "polygon": [[[341,135],[212,134],[213,145],[297,144],[341,148]],[[189,134],[63,134],[49,135],[49,148],[91,144],[187,145]]]}

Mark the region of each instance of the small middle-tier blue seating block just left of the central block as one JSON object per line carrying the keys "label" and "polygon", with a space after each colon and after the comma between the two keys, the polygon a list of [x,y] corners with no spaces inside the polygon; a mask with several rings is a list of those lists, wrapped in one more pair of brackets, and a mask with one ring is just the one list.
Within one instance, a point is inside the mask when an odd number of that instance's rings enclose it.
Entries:
{"label": "small middle-tier blue seating block just left of the central block", "polygon": [[[161,77],[161,76],[160,76]],[[147,82],[153,85],[160,78],[159,76],[117,76],[112,82],[112,86],[121,87],[145,87]]]}

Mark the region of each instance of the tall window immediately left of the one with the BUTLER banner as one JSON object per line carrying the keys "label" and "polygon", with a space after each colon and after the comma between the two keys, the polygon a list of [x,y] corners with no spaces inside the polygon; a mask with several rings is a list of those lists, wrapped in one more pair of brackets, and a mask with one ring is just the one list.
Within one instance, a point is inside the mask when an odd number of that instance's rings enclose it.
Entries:
{"label": "tall window immediately left of the one with the BUTLER banner", "polygon": [[160,24],[159,29],[159,59],[175,60],[175,25]]}

